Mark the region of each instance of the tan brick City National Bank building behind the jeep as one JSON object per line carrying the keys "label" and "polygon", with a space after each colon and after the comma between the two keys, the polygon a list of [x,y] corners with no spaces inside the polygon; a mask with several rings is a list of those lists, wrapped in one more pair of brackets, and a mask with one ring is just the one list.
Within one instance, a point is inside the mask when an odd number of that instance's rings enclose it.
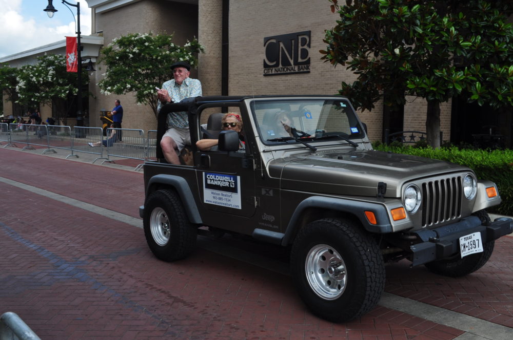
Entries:
{"label": "tan brick City National Bank building behind the jeep", "polygon": [[[204,95],[336,94],[341,81],[356,76],[343,66],[333,68],[321,61],[319,50],[324,30],[336,23],[325,0],[88,0],[92,9],[93,36],[107,46],[127,33],[174,33],[176,44],[198,37],[205,47],[199,67]],[[290,43],[293,41],[293,44]],[[280,58],[281,57],[281,58]],[[4,58],[5,59],[5,58]],[[0,58],[0,62],[2,62]],[[100,126],[102,109],[110,110],[114,99],[124,108],[123,127],[150,130],[155,118],[150,108],[137,105],[132,95],[105,96],[95,85],[101,66],[91,76],[88,100],[89,126]],[[171,77],[171,73],[170,73]],[[371,140],[382,140],[385,129],[425,131],[427,104],[422,98],[407,98],[404,112],[388,112],[381,102],[371,112],[360,113]],[[443,103],[441,131],[444,140],[471,142],[472,134],[485,125],[496,126],[511,146],[511,110],[483,114],[477,105]],[[45,110],[42,110],[43,115]]]}

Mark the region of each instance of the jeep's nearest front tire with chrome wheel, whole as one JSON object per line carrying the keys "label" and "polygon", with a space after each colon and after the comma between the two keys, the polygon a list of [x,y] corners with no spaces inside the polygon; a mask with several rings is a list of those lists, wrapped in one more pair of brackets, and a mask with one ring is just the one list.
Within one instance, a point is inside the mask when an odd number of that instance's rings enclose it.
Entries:
{"label": "jeep's nearest front tire with chrome wheel, whole", "polygon": [[291,271],[299,294],[316,315],[331,322],[361,316],[376,306],[385,286],[380,249],[351,221],[314,221],[298,233]]}

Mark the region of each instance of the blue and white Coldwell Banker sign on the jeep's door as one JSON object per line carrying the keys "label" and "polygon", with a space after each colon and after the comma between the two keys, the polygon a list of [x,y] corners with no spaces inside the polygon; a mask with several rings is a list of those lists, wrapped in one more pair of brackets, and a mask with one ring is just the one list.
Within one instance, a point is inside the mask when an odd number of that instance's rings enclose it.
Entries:
{"label": "blue and white Coldwell Banker sign on the jeep's door", "polygon": [[203,173],[203,202],[242,209],[240,176]]}

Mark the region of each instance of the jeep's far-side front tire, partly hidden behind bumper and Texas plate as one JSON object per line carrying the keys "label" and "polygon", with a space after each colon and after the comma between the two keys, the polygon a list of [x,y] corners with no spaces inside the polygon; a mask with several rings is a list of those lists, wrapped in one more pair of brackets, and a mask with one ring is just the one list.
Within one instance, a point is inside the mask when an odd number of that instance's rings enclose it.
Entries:
{"label": "jeep's far-side front tire, partly hidden behind bumper and Texas plate", "polygon": [[[488,225],[491,221],[485,210],[479,210],[473,215],[479,217],[483,225]],[[450,278],[463,277],[484,266],[490,259],[491,253],[494,252],[494,247],[495,241],[486,242],[483,244],[482,252],[467,255],[463,259],[458,254],[458,256],[451,259],[426,263],[425,266],[429,271],[435,274]]]}

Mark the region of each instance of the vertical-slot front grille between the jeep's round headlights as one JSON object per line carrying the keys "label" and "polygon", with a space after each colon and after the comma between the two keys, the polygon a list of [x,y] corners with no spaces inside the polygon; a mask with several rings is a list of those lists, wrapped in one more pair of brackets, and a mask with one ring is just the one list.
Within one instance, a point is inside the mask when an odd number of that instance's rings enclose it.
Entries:
{"label": "vertical-slot front grille between the jeep's round headlights", "polygon": [[455,220],[461,215],[461,177],[422,183],[422,226]]}

